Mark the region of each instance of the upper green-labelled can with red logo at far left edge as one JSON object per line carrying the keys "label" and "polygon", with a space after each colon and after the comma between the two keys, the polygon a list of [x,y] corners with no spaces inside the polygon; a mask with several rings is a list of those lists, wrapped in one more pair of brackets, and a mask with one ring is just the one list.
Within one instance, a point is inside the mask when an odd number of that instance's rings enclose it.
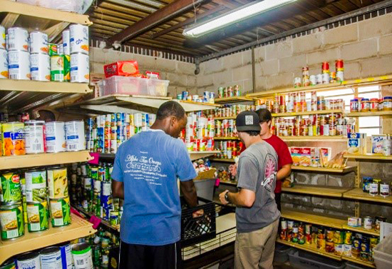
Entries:
{"label": "upper green-labelled can with red logo at far left edge", "polygon": [[21,180],[19,173],[6,172],[0,175],[1,188],[3,190],[3,203],[4,205],[11,205],[14,203],[21,203],[22,191]]}

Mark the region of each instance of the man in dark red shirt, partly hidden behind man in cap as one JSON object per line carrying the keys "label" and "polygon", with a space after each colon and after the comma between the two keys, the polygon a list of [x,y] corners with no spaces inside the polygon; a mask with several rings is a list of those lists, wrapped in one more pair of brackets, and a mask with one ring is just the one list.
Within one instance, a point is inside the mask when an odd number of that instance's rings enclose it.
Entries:
{"label": "man in dark red shirt, partly hidden behind man in cap", "polygon": [[[260,136],[264,141],[269,143],[272,148],[274,148],[278,155],[278,172],[277,186],[275,187],[275,201],[277,202],[279,211],[281,211],[280,196],[282,193],[282,181],[284,180],[284,178],[290,176],[290,173],[292,173],[292,156],[290,154],[289,147],[287,147],[287,144],[284,143],[284,141],[278,136],[273,135],[270,131],[272,122],[271,112],[269,112],[269,110],[266,108],[261,108],[256,111],[256,113],[260,119],[260,126],[262,126]],[[242,146],[241,152],[244,150],[245,148],[244,146]],[[235,166],[230,167],[230,171],[233,173],[234,176],[237,174],[236,168],[237,167]]]}

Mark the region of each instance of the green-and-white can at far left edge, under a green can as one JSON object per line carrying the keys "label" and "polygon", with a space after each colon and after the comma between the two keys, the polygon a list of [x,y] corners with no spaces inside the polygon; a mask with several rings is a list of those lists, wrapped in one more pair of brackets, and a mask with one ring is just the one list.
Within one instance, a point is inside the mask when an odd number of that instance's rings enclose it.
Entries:
{"label": "green-and-white can at far left edge, under a green can", "polygon": [[19,238],[24,235],[22,204],[0,206],[1,240]]}

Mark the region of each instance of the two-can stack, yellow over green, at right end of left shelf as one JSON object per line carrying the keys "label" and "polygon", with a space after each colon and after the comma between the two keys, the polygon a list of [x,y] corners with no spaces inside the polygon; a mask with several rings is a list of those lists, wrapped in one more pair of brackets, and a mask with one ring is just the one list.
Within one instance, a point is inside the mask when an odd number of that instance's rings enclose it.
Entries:
{"label": "two-can stack, yellow over green, at right end of left shelf", "polygon": [[71,223],[71,205],[67,169],[61,166],[48,168],[47,176],[52,226],[68,225]]}

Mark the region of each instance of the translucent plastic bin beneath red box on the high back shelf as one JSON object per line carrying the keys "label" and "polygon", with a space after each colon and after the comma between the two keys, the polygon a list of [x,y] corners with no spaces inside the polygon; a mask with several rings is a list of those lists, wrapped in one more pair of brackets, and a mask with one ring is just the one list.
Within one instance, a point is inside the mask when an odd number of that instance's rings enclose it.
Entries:
{"label": "translucent plastic bin beneath red box on the high back shelf", "polygon": [[130,76],[110,76],[105,78],[102,96],[129,94],[144,96],[167,96],[169,81]]}

